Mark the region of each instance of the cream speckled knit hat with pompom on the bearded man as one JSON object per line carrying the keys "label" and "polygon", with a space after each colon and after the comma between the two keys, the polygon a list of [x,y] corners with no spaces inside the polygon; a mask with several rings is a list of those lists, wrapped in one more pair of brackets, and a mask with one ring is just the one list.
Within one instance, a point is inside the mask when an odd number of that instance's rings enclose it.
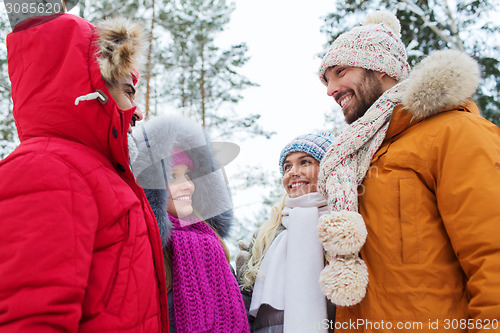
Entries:
{"label": "cream speckled knit hat with pompom on the bearded man", "polygon": [[402,81],[410,73],[406,47],[401,41],[401,24],[387,11],[369,14],[361,26],[340,35],[330,46],[319,69],[324,85],[325,72],[333,66],[361,67],[386,73]]}

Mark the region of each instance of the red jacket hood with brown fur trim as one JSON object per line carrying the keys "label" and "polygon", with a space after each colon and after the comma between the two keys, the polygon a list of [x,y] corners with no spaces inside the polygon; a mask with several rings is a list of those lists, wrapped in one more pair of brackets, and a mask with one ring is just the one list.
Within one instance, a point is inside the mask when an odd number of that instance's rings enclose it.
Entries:
{"label": "red jacket hood with brown fur trim", "polygon": [[[137,26],[118,27],[116,22],[126,20],[103,21],[102,28],[96,28],[80,17],[57,14],[27,19],[8,35],[13,114],[21,142],[37,137],[78,142],[99,151],[120,169],[128,169],[127,130],[134,109],[121,110],[106,81],[133,68],[140,50],[130,47],[137,44],[139,35]],[[131,35],[135,37],[125,38]],[[115,43],[111,45],[109,39]],[[105,40],[108,43],[102,44]],[[120,45],[128,45],[128,51]],[[107,57],[116,62],[103,67]],[[95,92],[104,100],[81,99]]]}

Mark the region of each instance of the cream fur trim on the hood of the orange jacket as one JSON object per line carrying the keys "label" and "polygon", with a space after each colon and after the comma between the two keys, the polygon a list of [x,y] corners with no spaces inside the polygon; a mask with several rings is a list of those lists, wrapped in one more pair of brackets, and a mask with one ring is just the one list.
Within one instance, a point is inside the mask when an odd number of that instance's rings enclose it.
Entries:
{"label": "cream fur trim on the hood of the orange jacket", "polygon": [[401,83],[401,104],[418,121],[464,104],[479,86],[478,63],[456,50],[437,51],[424,58]]}

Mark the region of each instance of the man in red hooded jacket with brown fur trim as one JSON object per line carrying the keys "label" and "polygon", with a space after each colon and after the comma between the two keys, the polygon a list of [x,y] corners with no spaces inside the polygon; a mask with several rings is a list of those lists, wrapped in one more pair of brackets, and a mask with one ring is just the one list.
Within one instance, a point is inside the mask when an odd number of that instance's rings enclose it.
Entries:
{"label": "man in red hooded jacket with brown fur trim", "polygon": [[0,331],[168,332],[157,224],[129,168],[141,33],[31,18],[7,38],[20,146],[0,161]]}

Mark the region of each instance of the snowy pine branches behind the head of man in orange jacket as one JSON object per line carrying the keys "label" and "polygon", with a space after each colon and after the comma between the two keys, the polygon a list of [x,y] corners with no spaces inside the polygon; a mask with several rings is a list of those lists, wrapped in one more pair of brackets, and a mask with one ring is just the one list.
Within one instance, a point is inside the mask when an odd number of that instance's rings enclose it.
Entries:
{"label": "snowy pine branches behind the head of man in orange jacket", "polygon": [[[500,125],[500,25],[498,0],[347,0],[325,17],[328,45],[357,25],[366,13],[386,9],[401,22],[403,43],[413,66],[432,51],[465,51],[480,64],[482,82],[475,101],[485,118]],[[496,15],[496,16],[495,16]]]}

